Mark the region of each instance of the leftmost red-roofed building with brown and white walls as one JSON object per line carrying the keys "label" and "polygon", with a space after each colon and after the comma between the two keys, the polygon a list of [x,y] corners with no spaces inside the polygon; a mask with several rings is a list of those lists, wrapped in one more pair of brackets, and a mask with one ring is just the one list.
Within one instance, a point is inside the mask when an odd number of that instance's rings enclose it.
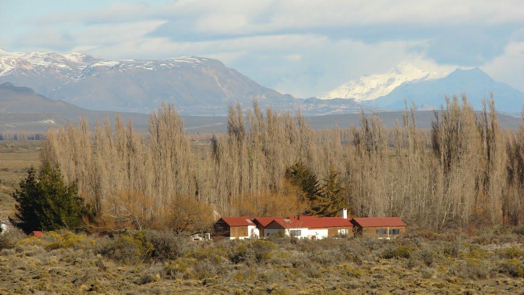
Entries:
{"label": "leftmost red-roofed building with brown and white walls", "polygon": [[222,217],[214,224],[216,234],[229,239],[258,238],[259,231],[253,220],[247,216]]}

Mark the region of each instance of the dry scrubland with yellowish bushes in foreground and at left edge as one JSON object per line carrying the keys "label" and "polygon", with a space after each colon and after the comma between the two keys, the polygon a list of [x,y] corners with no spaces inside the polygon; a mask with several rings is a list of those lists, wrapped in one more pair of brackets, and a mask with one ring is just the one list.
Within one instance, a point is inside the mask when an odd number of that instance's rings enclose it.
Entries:
{"label": "dry scrubland with yellowish bushes in foreground and at left edge", "polygon": [[[38,141],[0,142],[0,219],[38,165]],[[71,231],[0,238],[0,294],[521,294],[524,230],[486,227],[395,240],[340,238],[195,243],[158,231]]]}

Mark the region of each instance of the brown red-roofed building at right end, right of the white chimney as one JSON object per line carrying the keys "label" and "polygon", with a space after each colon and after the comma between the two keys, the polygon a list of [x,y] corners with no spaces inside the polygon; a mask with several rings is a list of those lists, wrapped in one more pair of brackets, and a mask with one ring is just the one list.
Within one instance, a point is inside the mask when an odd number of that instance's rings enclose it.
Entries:
{"label": "brown red-roofed building at right end, right of the white chimney", "polygon": [[406,224],[399,217],[355,217],[351,223],[355,236],[395,238],[406,232]]}

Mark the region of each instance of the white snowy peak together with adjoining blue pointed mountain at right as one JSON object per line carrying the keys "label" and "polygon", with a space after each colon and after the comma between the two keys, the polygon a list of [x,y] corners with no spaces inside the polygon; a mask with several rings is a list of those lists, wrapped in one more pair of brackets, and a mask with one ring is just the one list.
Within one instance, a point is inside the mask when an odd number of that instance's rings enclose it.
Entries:
{"label": "white snowy peak together with adjoining blue pointed mountain at right", "polygon": [[401,64],[379,75],[351,80],[317,96],[325,101],[352,99],[365,106],[402,110],[405,101],[418,110],[440,109],[445,96],[466,94],[476,110],[482,100],[493,94],[498,111],[517,113],[524,104],[524,93],[495,81],[479,68],[455,69],[451,73],[425,71],[411,64]]}

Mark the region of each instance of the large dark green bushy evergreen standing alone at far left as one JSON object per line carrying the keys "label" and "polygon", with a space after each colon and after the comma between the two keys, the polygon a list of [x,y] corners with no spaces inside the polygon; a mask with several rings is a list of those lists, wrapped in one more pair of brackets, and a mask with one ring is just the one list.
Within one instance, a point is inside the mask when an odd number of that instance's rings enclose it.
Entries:
{"label": "large dark green bushy evergreen standing alone at far left", "polygon": [[88,213],[77,185],[65,184],[58,166],[53,168],[46,163],[38,175],[31,166],[19,186],[13,193],[18,203],[18,220],[9,219],[26,232],[77,228],[83,222],[82,216]]}

